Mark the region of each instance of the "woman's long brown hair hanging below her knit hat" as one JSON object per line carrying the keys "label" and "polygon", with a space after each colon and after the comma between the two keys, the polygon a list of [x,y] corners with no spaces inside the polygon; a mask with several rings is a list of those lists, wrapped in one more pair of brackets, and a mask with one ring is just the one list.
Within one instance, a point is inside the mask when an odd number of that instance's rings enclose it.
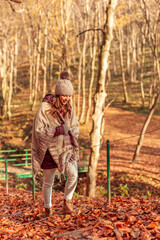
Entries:
{"label": "woman's long brown hair hanging below her knit hat", "polygon": [[72,107],[71,107],[70,101],[68,101],[65,105],[63,105],[58,95],[51,98],[51,100],[48,103],[50,104],[51,108],[47,112],[49,112],[49,114],[51,114],[54,118],[57,118],[57,114],[56,114],[57,111],[62,112],[64,118],[66,117],[67,113],[69,117],[71,117]]}

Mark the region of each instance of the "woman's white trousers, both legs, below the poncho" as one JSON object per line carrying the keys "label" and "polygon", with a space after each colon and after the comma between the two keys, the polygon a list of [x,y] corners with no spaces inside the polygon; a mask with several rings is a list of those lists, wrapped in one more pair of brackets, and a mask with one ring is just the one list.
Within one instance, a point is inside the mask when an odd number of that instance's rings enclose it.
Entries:
{"label": "woman's white trousers, both legs, below the poncho", "polygon": [[[52,186],[54,184],[56,168],[43,169],[43,186],[42,193],[44,199],[44,207],[52,206]],[[68,162],[66,167],[67,181],[65,184],[64,198],[70,200],[77,186],[78,170],[77,162]]]}

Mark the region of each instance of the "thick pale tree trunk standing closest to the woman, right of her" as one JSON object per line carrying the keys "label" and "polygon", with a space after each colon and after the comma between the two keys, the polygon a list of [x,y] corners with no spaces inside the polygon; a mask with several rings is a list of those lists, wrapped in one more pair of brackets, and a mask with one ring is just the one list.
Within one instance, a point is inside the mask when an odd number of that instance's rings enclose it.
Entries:
{"label": "thick pale tree trunk standing closest to the woman, right of her", "polygon": [[106,9],[106,21],[104,24],[103,42],[99,56],[99,72],[97,89],[94,97],[93,125],[90,133],[91,136],[91,154],[89,161],[89,169],[87,176],[87,195],[95,196],[96,190],[96,169],[99,159],[99,151],[101,144],[101,126],[104,116],[104,105],[106,99],[105,80],[108,69],[108,58],[111,41],[113,38],[114,12],[117,5],[117,0],[109,0],[108,8]]}

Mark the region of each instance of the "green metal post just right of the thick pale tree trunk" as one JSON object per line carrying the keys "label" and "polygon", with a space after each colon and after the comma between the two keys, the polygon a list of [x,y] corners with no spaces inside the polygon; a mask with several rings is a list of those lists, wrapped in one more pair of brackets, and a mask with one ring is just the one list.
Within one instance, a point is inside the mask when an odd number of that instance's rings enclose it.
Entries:
{"label": "green metal post just right of the thick pale tree trunk", "polygon": [[110,142],[107,140],[107,198],[111,203],[111,182],[110,182]]}

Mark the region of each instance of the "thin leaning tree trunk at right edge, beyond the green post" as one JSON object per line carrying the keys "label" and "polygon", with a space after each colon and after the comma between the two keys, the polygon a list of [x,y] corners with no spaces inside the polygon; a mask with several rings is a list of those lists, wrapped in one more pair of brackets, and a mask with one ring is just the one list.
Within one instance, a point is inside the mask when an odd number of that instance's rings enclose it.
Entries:
{"label": "thin leaning tree trunk at right edge, beyond the green post", "polygon": [[158,100],[159,100],[159,94],[157,95],[157,97],[155,97],[154,104],[153,104],[152,108],[150,109],[149,114],[148,114],[148,116],[147,116],[147,118],[145,120],[145,123],[143,125],[143,128],[141,130],[140,137],[139,137],[139,140],[138,140],[138,143],[137,143],[137,146],[136,146],[136,150],[135,150],[132,162],[136,161],[136,159],[138,157],[138,154],[139,154],[139,152],[141,150],[141,147],[142,147],[142,144],[143,144],[144,135],[145,135],[147,127],[148,127],[148,125],[149,125],[149,123],[151,121],[151,118],[152,118],[154,110],[155,110],[155,108],[157,106]]}

